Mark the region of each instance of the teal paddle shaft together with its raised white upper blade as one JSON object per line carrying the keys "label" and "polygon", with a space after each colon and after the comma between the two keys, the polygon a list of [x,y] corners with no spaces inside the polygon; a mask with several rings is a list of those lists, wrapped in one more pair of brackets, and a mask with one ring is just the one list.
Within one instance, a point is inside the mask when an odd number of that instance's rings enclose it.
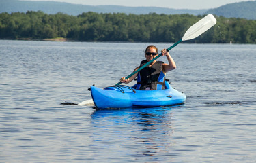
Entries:
{"label": "teal paddle shaft together with its raised white upper blade", "polygon": [[[177,46],[177,44],[181,43],[182,41],[186,41],[186,40],[190,40],[190,39],[195,39],[196,37],[198,37],[199,35],[201,35],[205,31],[210,29],[212,26],[214,26],[216,24],[216,22],[217,22],[216,18],[214,18],[214,16],[212,14],[208,14],[207,16],[205,16],[204,18],[199,20],[197,23],[195,23],[193,26],[190,26],[190,28],[186,31],[186,33],[184,34],[182,39],[180,39],[179,41],[174,43],[173,46],[170,46],[168,48],[168,50],[171,50],[172,48]],[[154,60],[156,60],[160,56],[162,56],[162,53],[159,54],[158,56],[156,56],[154,59],[150,60],[150,62],[147,62],[145,65],[143,65],[142,67],[137,69],[137,71],[134,71],[133,73],[128,75],[126,77],[126,79],[129,79],[132,75],[134,75],[135,73],[141,71],[141,69],[143,69],[147,65],[150,65],[150,63],[154,62]],[[117,86],[117,85],[120,85],[120,84],[122,84],[122,83],[119,82],[119,83],[117,83],[115,85]]]}

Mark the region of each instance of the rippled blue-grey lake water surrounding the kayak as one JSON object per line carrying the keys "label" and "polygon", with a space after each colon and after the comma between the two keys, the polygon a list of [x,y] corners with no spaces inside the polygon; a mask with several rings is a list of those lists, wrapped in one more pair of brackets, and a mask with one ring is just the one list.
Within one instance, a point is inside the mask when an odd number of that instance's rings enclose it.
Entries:
{"label": "rippled blue-grey lake water surrounding the kayak", "polygon": [[130,75],[149,44],[0,40],[0,162],[255,162],[256,45],[173,48],[184,105],[60,105]]}

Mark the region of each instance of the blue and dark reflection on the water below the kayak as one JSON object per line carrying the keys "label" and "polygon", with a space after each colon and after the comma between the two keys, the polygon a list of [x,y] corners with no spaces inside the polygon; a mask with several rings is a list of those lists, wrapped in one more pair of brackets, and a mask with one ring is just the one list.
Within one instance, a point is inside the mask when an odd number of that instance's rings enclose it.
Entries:
{"label": "blue and dark reflection on the water below the kayak", "polygon": [[[91,114],[94,148],[117,150],[122,155],[154,156],[169,152],[173,107],[102,109]],[[106,147],[107,145],[107,147]],[[111,155],[111,153],[110,153]]]}

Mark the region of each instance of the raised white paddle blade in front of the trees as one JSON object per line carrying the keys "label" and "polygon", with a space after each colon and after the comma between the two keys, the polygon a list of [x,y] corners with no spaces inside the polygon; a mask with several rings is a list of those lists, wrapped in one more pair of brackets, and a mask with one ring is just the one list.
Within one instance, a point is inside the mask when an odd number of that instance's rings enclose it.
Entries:
{"label": "raised white paddle blade in front of the trees", "polygon": [[210,29],[212,26],[214,26],[216,22],[216,18],[214,18],[212,14],[208,14],[207,16],[199,20],[196,24],[190,26],[190,28],[186,31],[185,35],[182,37],[182,41],[195,39],[205,31]]}

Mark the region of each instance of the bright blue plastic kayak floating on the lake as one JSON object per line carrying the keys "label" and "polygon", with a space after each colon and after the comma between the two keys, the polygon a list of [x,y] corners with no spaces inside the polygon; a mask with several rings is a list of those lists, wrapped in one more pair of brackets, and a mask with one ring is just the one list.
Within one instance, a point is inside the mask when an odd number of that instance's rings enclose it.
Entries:
{"label": "bright blue plastic kayak floating on the lake", "polygon": [[186,95],[165,82],[165,90],[135,90],[136,84],[110,86],[104,89],[91,86],[91,97],[98,109],[126,107],[160,107],[184,103]]}

